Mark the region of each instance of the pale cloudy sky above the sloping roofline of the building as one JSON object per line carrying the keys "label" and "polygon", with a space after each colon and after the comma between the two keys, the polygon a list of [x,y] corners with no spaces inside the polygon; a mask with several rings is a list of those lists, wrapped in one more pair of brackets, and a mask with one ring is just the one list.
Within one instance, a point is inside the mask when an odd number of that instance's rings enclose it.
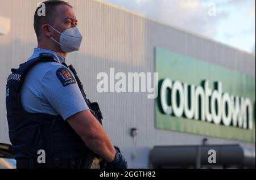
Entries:
{"label": "pale cloudy sky above the sloping roofline of the building", "polygon": [[255,55],[255,0],[104,0]]}

